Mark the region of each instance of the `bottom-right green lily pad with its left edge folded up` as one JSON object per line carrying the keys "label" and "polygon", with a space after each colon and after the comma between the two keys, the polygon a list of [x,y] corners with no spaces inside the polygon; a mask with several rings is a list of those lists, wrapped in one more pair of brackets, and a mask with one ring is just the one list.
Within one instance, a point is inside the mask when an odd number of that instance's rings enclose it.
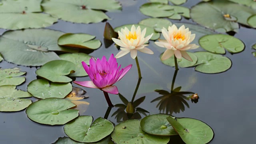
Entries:
{"label": "bottom-right green lily pad with its left edge folded up", "polygon": [[172,117],[167,120],[186,144],[207,144],[214,136],[212,128],[200,120],[177,118],[176,121]]}

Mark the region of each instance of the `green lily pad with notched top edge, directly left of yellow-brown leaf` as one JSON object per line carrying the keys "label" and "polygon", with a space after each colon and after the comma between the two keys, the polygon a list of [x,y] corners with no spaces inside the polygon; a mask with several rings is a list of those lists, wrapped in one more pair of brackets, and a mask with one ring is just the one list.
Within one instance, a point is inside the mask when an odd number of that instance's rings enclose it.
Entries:
{"label": "green lily pad with notched top edge, directly left of yellow-brown leaf", "polygon": [[28,92],[36,98],[65,98],[72,91],[70,83],[49,83],[48,80],[33,80],[28,84]]}

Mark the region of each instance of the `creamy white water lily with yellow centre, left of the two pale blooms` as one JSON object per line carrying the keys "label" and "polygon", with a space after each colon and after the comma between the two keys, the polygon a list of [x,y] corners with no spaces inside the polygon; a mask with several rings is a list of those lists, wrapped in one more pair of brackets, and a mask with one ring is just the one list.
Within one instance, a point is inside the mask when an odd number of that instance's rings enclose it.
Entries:
{"label": "creamy white water lily with yellow centre, left of the two pale blooms", "polygon": [[118,31],[120,40],[116,38],[112,38],[112,40],[120,46],[121,51],[118,52],[115,57],[120,58],[131,52],[131,57],[134,59],[137,56],[137,50],[146,54],[154,54],[152,50],[145,47],[148,46],[148,44],[145,43],[148,42],[153,33],[144,38],[145,34],[146,28],[141,32],[140,26],[136,29],[134,25],[132,25],[131,30],[128,30],[128,28],[125,27],[124,29],[121,29],[121,32]]}

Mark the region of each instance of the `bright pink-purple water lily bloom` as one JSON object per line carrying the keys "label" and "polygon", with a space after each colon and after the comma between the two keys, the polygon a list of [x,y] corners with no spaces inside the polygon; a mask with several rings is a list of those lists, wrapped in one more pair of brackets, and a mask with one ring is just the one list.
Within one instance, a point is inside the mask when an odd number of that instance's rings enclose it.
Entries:
{"label": "bright pink-purple water lily bloom", "polygon": [[120,70],[121,65],[118,66],[114,54],[111,54],[108,61],[103,56],[101,60],[99,58],[96,60],[92,57],[89,62],[90,67],[85,62],[82,62],[82,65],[92,81],[74,81],[74,83],[88,88],[98,88],[110,94],[119,93],[117,87],[113,86],[113,84],[121,80],[132,67],[132,64],[130,64]]}

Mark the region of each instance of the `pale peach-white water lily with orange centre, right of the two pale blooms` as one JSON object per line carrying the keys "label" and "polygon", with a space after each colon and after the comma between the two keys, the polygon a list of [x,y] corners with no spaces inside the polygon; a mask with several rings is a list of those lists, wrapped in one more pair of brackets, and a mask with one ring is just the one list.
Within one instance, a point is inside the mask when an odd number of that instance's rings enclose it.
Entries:
{"label": "pale peach-white water lily with orange centre, right of the two pale blooms", "polygon": [[185,58],[192,61],[186,50],[193,50],[198,48],[196,44],[190,44],[195,39],[196,34],[191,34],[189,28],[182,25],[179,29],[175,24],[162,29],[162,34],[166,40],[159,40],[155,42],[156,45],[166,48],[161,60],[166,60],[175,55],[176,58]]}

